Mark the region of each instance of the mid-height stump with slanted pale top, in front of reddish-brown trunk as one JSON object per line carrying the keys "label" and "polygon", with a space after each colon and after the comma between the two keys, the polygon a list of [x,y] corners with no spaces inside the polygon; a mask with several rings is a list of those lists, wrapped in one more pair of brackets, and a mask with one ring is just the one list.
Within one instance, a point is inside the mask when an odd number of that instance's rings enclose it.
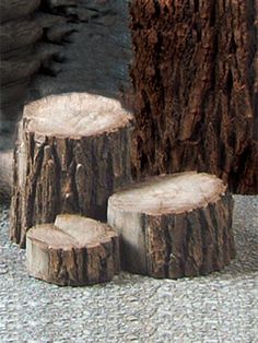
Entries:
{"label": "mid-height stump with slanted pale top, in front of reddish-brown trunk", "polygon": [[125,270],[176,279],[230,263],[232,211],[222,180],[189,172],[153,177],[114,194],[108,223],[119,232]]}

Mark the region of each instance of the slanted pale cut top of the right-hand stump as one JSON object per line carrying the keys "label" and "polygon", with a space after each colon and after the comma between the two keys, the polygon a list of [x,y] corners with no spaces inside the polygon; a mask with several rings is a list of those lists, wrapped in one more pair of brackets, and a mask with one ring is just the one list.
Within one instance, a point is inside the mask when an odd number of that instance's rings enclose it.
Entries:
{"label": "slanted pale cut top of the right-hand stump", "polygon": [[183,213],[218,201],[225,191],[226,186],[214,175],[196,172],[162,175],[115,193],[108,208],[153,215]]}

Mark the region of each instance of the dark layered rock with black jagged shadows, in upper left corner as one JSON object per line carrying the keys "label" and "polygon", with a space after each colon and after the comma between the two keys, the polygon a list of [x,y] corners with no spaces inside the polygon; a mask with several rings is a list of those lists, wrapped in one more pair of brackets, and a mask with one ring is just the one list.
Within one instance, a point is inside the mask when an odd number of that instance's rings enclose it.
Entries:
{"label": "dark layered rock with black jagged shadows, in upper left corner", "polygon": [[[74,3],[74,1],[73,1]],[[62,45],[74,31],[63,8],[72,1],[1,0],[0,150],[12,146],[15,123],[30,94],[32,76],[56,74]]]}

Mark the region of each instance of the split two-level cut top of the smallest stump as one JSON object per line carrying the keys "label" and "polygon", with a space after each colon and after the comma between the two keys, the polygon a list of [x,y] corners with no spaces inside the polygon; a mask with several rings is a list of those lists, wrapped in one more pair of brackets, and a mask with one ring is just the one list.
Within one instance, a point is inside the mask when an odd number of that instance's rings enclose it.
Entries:
{"label": "split two-level cut top of the smallest stump", "polygon": [[95,247],[116,237],[108,225],[75,214],[61,214],[55,224],[42,224],[31,228],[27,238],[54,249]]}

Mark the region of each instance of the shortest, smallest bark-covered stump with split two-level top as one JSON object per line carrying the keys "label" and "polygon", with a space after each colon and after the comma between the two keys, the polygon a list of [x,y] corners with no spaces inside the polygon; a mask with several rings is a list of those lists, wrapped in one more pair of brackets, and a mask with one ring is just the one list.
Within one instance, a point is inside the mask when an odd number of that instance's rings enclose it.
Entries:
{"label": "shortest, smallest bark-covered stump with split two-level top", "polygon": [[59,215],[52,224],[31,228],[26,236],[28,273],[57,285],[107,282],[119,272],[116,232],[80,215]]}

